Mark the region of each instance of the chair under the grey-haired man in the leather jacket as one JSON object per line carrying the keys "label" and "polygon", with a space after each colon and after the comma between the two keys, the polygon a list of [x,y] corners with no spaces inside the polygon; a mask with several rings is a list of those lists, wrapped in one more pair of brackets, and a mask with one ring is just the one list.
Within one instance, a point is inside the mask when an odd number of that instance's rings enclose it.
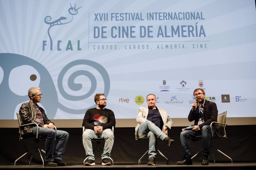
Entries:
{"label": "chair under the grey-haired man in the leather jacket", "polygon": [[27,125],[35,125],[37,127],[37,130],[36,130],[36,136],[33,136],[31,134],[24,134],[24,135],[21,135],[20,134],[20,141],[34,141],[36,143],[36,146],[33,147],[32,149],[30,149],[28,152],[24,153],[22,156],[20,156],[18,159],[15,160],[14,162],[14,166],[16,165],[16,162],[21,159],[23,156],[25,156],[26,154],[30,153],[33,151],[33,154],[32,156],[30,157],[30,160],[29,160],[29,166],[30,166],[30,162],[34,156],[34,153],[35,152],[39,152],[40,154],[40,158],[42,159],[42,162],[43,162],[43,166],[44,166],[44,160],[43,160],[43,157],[42,157],[42,154],[40,152],[40,150],[45,153],[45,151],[43,149],[40,149],[39,148],[39,145],[38,143],[42,140],[45,140],[45,138],[41,137],[41,136],[38,136],[38,130],[39,130],[39,126],[36,124],[36,123],[28,123],[28,124],[25,124],[25,125],[22,125],[22,119],[20,117],[20,114],[19,113],[16,113],[17,114],[17,118],[18,118],[18,122],[19,122],[19,128],[22,129],[24,126],[27,126]]}

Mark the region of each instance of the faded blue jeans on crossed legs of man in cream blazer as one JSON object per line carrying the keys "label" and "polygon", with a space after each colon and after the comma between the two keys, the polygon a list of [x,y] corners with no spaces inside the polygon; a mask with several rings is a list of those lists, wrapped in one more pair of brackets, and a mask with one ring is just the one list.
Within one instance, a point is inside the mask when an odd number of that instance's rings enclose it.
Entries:
{"label": "faded blue jeans on crossed legs of man in cream blazer", "polygon": [[165,133],[159,129],[157,126],[155,126],[154,123],[151,121],[147,121],[144,123],[141,123],[138,129],[138,135],[140,137],[147,136],[149,139],[149,148],[148,148],[148,158],[155,158],[157,154],[157,137],[159,137],[161,140],[164,141],[165,137],[168,137],[165,135]]}

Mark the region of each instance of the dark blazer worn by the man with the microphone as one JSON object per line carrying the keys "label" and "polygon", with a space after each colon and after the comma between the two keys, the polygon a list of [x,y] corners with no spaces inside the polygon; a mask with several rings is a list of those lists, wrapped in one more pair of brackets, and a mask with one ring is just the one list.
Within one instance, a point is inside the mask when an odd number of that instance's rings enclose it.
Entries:
{"label": "dark blazer worn by the man with the microphone", "polygon": [[[199,116],[199,105],[197,106],[196,110],[190,110],[188,115],[188,121],[194,122],[194,125],[198,123],[198,116]],[[210,125],[211,122],[217,122],[218,117],[218,109],[217,105],[214,102],[205,100],[204,102],[204,123],[199,125],[199,128],[202,129],[204,125]],[[221,137],[220,134],[220,126],[217,123],[213,124],[215,128],[215,133],[217,136]]]}

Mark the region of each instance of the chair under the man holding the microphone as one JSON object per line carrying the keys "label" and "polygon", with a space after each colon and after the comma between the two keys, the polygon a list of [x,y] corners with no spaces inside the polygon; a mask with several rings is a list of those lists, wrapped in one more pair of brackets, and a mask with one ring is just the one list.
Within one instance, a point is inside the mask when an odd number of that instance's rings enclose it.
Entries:
{"label": "chair under the man holding the microphone", "polygon": [[[210,127],[211,127],[211,142],[212,142],[212,139],[225,139],[225,138],[227,138],[226,130],[225,130],[225,128],[226,128],[226,126],[227,126],[227,124],[226,124],[226,115],[227,115],[227,111],[225,111],[225,112],[223,112],[223,113],[220,113],[220,114],[218,114],[217,122],[211,122],[211,124],[210,124]],[[212,133],[212,126],[213,126],[213,123],[218,123],[218,124],[220,125],[220,134],[221,134],[221,137],[218,137],[217,135],[214,135],[214,134]],[[196,137],[195,137],[194,139],[192,139],[192,140],[198,140],[198,139],[202,139],[202,136],[196,136]],[[227,157],[228,159],[230,159],[230,160],[231,160],[231,164],[233,164],[233,160],[232,160],[229,156],[227,156],[226,154],[224,154],[223,152],[221,152],[219,149],[217,149],[216,147],[210,145],[210,150],[211,150],[211,149],[215,149],[216,151],[218,151],[219,153],[221,153],[222,155],[224,155],[225,157]],[[199,152],[197,152],[193,157],[191,157],[191,159],[193,159],[194,157],[196,157],[197,154],[200,153],[201,151],[202,151],[202,149],[201,149]],[[213,152],[211,152],[211,153],[212,153],[212,155],[213,155]],[[214,155],[213,155],[213,160],[214,160],[214,164],[215,164],[215,157],[214,157]]]}

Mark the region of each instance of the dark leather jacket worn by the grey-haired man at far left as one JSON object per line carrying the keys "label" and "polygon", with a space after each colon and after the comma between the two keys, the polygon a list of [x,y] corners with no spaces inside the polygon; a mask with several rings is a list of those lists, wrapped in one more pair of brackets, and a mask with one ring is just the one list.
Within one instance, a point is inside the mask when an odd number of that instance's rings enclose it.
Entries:
{"label": "dark leather jacket worn by the grey-haired man at far left", "polygon": [[[53,123],[47,118],[47,116],[45,114],[45,110],[43,108],[41,108],[40,106],[38,106],[38,108],[43,115],[44,124],[46,125],[49,123]],[[22,119],[22,125],[28,124],[28,123],[37,123],[38,126],[40,126],[40,127],[43,126],[43,124],[36,122],[36,106],[34,105],[34,103],[32,103],[32,102],[23,103],[22,106],[20,107],[19,113],[20,113],[20,117]],[[26,133],[31,133],[32,126],[33,125],[25,126],[23,129],[19,130],[19,133],[22,135],[26,134]]]}

